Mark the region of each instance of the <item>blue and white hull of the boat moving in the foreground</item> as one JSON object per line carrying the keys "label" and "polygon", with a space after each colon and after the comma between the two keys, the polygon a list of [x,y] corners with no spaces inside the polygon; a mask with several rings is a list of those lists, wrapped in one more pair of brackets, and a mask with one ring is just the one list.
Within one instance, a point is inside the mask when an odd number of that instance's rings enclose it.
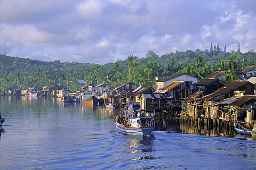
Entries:
{"label": "blue and white hull of the boat moving in the foreground", "polygon": [[132,135],[146,135],[151,134],[154,131],[154,128],[126,128],[124,125],[120,123],[115,123],[116,129],[125,134],[132,134]]}

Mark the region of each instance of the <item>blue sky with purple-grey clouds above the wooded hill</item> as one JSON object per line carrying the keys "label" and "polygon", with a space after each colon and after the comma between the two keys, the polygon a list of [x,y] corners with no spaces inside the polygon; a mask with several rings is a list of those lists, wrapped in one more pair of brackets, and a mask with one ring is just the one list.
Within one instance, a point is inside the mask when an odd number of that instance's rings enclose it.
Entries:
{"label": "blue sky with purple-grey clouds above the wooded hill", "polygon": [[0,24],[0,54],[41,61],[256,49],[256,1],[1,0]]}

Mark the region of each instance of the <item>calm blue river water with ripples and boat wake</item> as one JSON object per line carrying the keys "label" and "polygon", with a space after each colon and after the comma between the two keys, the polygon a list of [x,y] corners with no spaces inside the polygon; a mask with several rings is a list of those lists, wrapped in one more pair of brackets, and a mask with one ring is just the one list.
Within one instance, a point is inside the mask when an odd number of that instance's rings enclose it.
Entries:
{"label": "calm blue river water with ripples and boat wake", "polygon": [[255,169],[256,141],[154,131],[123,135],[114,112],[0,97],[0,169]]}

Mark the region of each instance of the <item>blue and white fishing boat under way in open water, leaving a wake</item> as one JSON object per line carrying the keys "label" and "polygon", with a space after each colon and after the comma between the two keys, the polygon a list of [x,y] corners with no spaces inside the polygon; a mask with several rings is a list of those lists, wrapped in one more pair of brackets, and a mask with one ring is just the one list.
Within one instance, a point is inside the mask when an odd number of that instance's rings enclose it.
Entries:
{"label": "blue and white fishing boat under way in open water, leaving a wake", "polygon": [[142,115],[139,112],[138,115],[134,111],[129,112],[130,109],[122,108],[124,116],[116,116],[115,125],[119,132],[133,135],[146,135],[151,134],[155,129],[154,115],[146,114]]}

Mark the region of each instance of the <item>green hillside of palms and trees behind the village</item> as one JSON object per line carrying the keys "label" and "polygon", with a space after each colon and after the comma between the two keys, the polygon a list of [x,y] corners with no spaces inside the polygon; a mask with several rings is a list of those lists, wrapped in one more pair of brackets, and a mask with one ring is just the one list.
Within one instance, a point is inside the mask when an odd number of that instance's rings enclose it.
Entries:
{"label": "green hillside of palms and trees behind the village", "polygon": [[195,52],[175,52],[159,57],[149,50],[146,57],[129,55],[126,60],[115,63],[83,64],[61,63],[60,61],[43,62],[29,58],[0,55],[0,89],[22,89],[26,87],[44,87],[60,83],[75,91],[86,83],[110,83],[112,85],[133,82],[141,86],[155,86],[156,76],[171,76],[174,73],[187,73],[204,78],[213,71],[226,71],[223,80],[237,79],[244,66],[256,64],[256,53],[250,49],[247,53],[222,52],[219,45],[209,50],[196,49]]}

